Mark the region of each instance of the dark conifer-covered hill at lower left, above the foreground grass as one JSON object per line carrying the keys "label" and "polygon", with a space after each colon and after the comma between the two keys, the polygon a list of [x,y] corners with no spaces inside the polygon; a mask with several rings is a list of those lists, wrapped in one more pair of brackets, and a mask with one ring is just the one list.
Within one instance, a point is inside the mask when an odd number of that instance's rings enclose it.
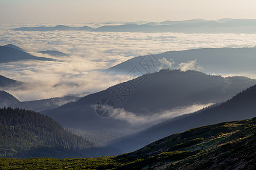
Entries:
{"label": "dark conifer-covered hill at lower left, above the foreground grass", "polygon": [[117,154],[79,137],[43,114],[0,109],[0,155],[13,158],[71,158]]}

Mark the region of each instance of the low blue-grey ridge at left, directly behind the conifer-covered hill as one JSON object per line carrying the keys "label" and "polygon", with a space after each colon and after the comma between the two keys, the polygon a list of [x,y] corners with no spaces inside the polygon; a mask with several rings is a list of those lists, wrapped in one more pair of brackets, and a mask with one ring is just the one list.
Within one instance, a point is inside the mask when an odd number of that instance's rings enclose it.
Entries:
{"label": "low blue-grey ridge at left, directly behind the conifer-covered hill", "polygon": [[[86,95],[86,94],[84,94]],[[53,97],[51,99],[32,100],[32,101],[19,101],[11,94],[0,91],[0,108],[12,107],[12,108],[23,108],[31,111],[40,112],[46,109],[53,109],[60,107],[61,105],[75,102],[81,99],[76,95],[68,95],[64,97]]]}

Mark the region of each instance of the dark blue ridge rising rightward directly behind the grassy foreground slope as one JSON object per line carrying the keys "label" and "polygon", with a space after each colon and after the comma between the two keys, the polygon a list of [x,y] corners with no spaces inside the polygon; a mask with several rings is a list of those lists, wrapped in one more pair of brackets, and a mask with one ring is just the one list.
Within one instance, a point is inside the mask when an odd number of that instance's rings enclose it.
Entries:
{"label": "dark blue ridge rising rightward directly behind the grassy foreground slope", "polygon": [[201,111],[186,114],[152,126],[146,130],[122,137],[110,146],[122,148],[125,152],[135,151],[168,135],[185,130],[216,124],[224,121],[236,121],[256,116],[256,85],[244,90],[232,99]]}

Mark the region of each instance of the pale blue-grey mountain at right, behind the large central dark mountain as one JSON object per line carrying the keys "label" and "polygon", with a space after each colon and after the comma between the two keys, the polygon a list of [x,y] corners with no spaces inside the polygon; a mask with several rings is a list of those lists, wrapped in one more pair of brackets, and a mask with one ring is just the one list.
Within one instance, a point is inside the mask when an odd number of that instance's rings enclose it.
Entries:
{"label": "pale blue-grey mountain at right, behind the large central dark mountain", "polygon": [[[148,65],[151,67],[148,68]],[[256,48],[203,48],[170,51],[138,56],[110,68],[129,73],[137,67],[142,73],[154,73],[159,68],[201,70],[210,74],[255,74]]]}

